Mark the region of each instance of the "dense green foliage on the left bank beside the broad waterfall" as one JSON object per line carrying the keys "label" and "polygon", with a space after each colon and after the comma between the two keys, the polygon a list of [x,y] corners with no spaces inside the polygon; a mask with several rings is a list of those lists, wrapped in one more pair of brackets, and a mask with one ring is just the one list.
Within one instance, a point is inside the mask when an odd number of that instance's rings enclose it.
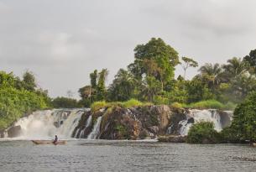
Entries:
{"label": "dense green foliage on the left bank beside the broad waterfall", "polygon": [[46,107],[50,107],[50,98],[47,91],[36,87],[32,72],[26,71],[20,80],[13,73],[0,71],[0,130],[25,113]]}

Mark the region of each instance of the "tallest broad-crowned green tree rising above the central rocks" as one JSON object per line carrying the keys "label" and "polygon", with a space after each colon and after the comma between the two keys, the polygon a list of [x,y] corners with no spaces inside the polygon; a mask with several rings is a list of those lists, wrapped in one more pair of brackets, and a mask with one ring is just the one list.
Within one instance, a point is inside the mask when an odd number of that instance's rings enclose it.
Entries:
{"label": "tallest broad-crowned green tree rising above the central rocks", "polygon": [[163,83],[162,87],[174,78],[175,65],[179,64],[177,51],[162,39],[153,38],[147,44],[138,44],[134,49],[134,57],[134,62],[128,65],[133,75],[138,80],[154,76]]}

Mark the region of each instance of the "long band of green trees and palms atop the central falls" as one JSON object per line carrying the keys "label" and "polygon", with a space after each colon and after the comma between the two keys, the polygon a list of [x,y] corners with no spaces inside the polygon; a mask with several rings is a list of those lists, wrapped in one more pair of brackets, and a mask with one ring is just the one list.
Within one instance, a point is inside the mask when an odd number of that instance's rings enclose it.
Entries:
{"label": "long band of green trees and palms atop the central falls", "polygon": [[[180,59],[180,60],[179,60]],[[107,69],[90,74],[91,85],[79,90],[80,104],[90,107],[97,101],[125,102],[137,99],[141,102],[183,107],[222,108],[232,110],[243,102],[251,91],[256,91],[253,72],[255,50],[243,59],[234,57],[227,64],[205,64],[191,80],[185,73],[198,63],[189,57],[179,58],[178,52],[163,39],[150,39],[134,49],[134,61],[128,69],[118,70],[112,84],[105,85]],[[175,79],[175,67],[181,65],[184,76]]]}

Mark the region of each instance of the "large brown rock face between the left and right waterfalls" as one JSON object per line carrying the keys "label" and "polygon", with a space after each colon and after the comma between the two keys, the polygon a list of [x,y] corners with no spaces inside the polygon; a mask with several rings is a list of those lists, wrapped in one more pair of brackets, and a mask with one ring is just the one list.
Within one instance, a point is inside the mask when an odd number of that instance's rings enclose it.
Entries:
{"label": "large brown rock face between the left and right waterfalls", "polygon": [[170,122],[170,108],[148,106],[136,108],[115,107],[102,115],[100,138],[138,139],[155,138],[165,133]]}

